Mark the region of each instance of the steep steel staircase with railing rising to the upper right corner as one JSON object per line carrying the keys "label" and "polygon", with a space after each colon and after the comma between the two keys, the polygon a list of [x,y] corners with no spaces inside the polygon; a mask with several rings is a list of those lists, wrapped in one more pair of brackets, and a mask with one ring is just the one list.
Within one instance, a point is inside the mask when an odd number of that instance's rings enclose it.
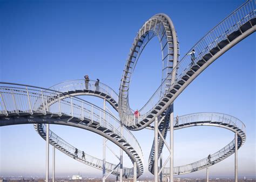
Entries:
{"label": "steep steel staircase with railing rising to the upper right corner", "polygon": [[[255,32],[256,19],[254,6],[252,0],[242,4],[237,10],[233,11],[231,15],[226,17],[201,38],[200,41],[191,48],[191,50],[196,51],[193,61],[190,55],[186,55],[178,62],[177,66],[175,66],[169,76],[163,80],[150,100],[139,110],[140,116],[138,118],[134,118],[134,114],[129,107],[129,84],[122,86],[126,81],[124,72],[119,94],[119,109],[124,111],[122,112],[123,115],[120,116],[121,121],[128,126],[130,130],[141,130],[149,126],[154,121],[154,118],[160,116],[187,85],[203,72],[207,66],[242,39]],[[140,39],[138,39],[137,42],[139,40]],[[126,68],[129,68],[130,62],[130,59],[127,60]],[[131,73],[129,73],[129,77],[131,77]],[[177,77],[173,80],[174,82],[171,83],[170,77],[173,75],[177,75]],[[126,87],[126,89],[122,91],[124,87]],[[126,100],[123,99],[123,95]],[[124,102],[124,109],[121,107],[122,101]],[[126,107],[127,110],[125,110]]]}

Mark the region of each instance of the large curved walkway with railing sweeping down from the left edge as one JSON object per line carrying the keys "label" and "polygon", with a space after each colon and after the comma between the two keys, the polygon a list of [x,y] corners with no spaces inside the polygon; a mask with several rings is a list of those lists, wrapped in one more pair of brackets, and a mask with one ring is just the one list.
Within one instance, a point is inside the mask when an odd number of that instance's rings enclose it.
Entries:
{"label": "large curved walkway with railing sweeping down from the left edge", "polygon": [[137,177],[142,175],[142,149],[129,130],[124,127],[121,133],[121,123],[112,114],[62,92],[29,85],[0,84],[0,126],[51,123],[93,131],[122,148],[132,162],[136,162]]}

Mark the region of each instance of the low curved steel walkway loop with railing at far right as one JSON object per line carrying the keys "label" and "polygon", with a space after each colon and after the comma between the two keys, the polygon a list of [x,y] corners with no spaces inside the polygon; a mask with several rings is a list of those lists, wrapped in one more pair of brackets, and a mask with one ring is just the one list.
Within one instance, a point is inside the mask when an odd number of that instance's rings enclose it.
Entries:
{"label": "low curved steel walkway loop with railing at far right", "polygon": [[[238,134],[238,149],[245,143],[245,124],[241,120],[223,113],[193,113],[180,116],[178,122],[174,119],[174,130],[183,129],[185,127],[192,126],[216,126],[223,127],[224,129],[231,130]],[[207,157],[196,161],[191,164],[174,167],[174,174],[186,174],[194,171],[201,170],[207,166],[219,163],[228,156],[234,153],[235,139],[233,139],[223,149],[211,154],[211,161],[207,161]],[[149,171],[153,173],[154,160],[150,160]],[[170,172],[170,168],[166,167],[163,170],[163,175],[167,175]]]}

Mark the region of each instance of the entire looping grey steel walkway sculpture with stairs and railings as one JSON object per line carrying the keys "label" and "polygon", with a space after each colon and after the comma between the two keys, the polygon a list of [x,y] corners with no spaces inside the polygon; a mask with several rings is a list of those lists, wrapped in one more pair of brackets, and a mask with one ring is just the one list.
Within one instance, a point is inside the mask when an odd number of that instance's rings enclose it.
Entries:
{"label": "entire looping grey steel walkway sculpture with stairs and railings", "polygon": [[[60,124],[89,130],[111,140],[123,149],[132,163],[137,165],[137,174],[133,168],[123,168],[127,178],[134,175],[141,176],[144,171],[143,153],[136,138],[129,130],[152,129],[150,124],[156,117],[161,120],[159,131],[166,138],[169,129],[170,112],[173,102],[179,94],[214,60],[231,49],[242,39],[256,30],[254,2],[252,0],[242,4],[228,17],[216,25],[200,39],[188,52],[195,50],[195,58],[185,55],[179,60],[179,44],[177,34],[171,19],[165,14],[157,14],[150,18],[139,29],[127,58],[119,95],[109,86],[90,80],[88,87],[84,80],[71,80],[44,89],[36,86],[0,83],[0,126],[15,124],[34,124],[36,131],[45,139],[45,123]],[[150,100],[140,109],[140,116],[134,117],[134,111],[129,105],[129,86],[131,76],[146,44],[157,36],[162,52],[162,80]],[[119,113],[120,121],[111,113],[79,99],[76,96],[90,95],[105,99]],[[152,107],[153,106],[153,107]],[[192,126],[216,126],[228,129],[238,134],[238,148],[246,140],[245,125],[239,119],[220,113],[193,113],[180,116],[178,122],[174,120],[174,130]],[[124,132],[120,126],[124,125]],[[74,157],[75,147],[59,138],[50,131],[50,144],[66,155],[92,167],[103,169],[103,161],[88,154],[82,159],[81,151]],[[163,138],[158,136],[160,146],[158,157],[163,150]],[[153,144],[154,145],[154,144]],[[185,174],[201,170],[214,165],[234,153],[234,140],[223,149],[211,154],[211,161],[207,158],[191,164],[174,167],[174,174]],[[153,173],[154,155],[152,146],[149,157],[149,171]],[[106,163],[106,171],[119,176],[120,168]],[[163,174],[169,174],[170,169],[164,168]]]}

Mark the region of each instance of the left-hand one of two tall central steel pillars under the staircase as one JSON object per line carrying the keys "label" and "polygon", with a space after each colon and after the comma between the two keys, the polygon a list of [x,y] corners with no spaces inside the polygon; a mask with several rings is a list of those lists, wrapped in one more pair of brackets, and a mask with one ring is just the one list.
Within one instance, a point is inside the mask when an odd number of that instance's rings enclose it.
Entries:
{"label": "left-hand one of two tall central steel pillars under the staircase", "polygon": [[158,118],[154,119],[154,182],[158,182]]}

